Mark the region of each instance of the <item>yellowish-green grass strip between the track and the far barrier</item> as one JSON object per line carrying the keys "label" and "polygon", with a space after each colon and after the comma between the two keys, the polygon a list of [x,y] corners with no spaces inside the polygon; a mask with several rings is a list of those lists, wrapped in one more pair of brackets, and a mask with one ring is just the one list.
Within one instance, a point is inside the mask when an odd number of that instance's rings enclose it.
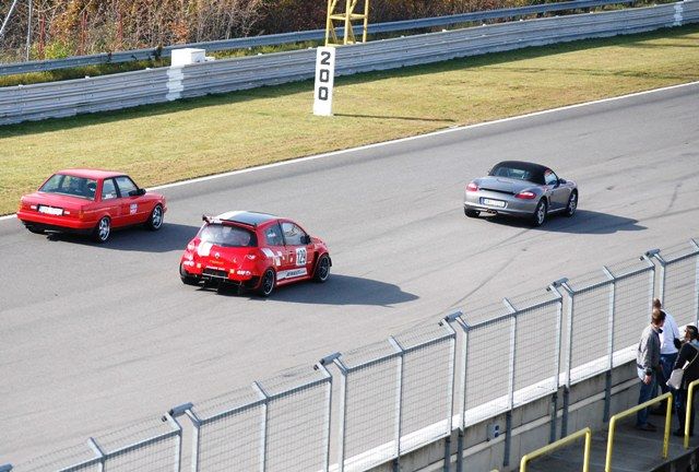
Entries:
{"label": "yellowish-green grass strip between the track and the far barrier", "polygon": [[145,187],[699,80],[699,25],[0,127],[0,214],[52,172],[123,170]]}

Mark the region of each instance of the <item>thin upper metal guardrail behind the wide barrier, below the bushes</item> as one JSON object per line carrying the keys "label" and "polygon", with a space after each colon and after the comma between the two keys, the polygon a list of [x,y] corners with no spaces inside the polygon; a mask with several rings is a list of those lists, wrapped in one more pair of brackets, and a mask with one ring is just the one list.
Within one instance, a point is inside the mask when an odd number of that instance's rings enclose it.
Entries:
{"label": "thin upper metal guardrail behind the wide barrier, below the bushes", "polygon": [[[560,3],[545,3],[510,9],[497,9],[471,13],[461,13],[447,16],[434,16],[418,20],[405,20],[398,22],[376,23],[369,25],[370,34],[391,33],[400,31],[420,30],[435,26],[450,26],[459,23],[470,23],[484,20],[503,20],[525,16],[531,14],[550,13],[566,10],[579,10],[605,7],[608,4],[628,4],[633,0],[573,0]],[[355,33],[360,33],[362,26],[355,27]],[[344,28],[337,28],[339,34]],[[151,60],[158,57],[169,57],[173,49],[185,47],[205,49],[206,51],[220,51],[229,49],[242,49],[260,46],[279,46],[284,44],[321,40],[325,37],[324,30],[310,30],[295,33],[281,33],[273,35],[252,36],[234,39],[223,39],[203,43],[190,43],[170,45],[163,48],[133,49],[128,51],[103,52],[88,56],[74,56],[66,59],[35,60],[27,62],[0,64],[0,75],[21,74],[27,72],[44,72],[58,69],[69,69],[81,66],[96,66],[105,63],[131,62],[137,60]]]}

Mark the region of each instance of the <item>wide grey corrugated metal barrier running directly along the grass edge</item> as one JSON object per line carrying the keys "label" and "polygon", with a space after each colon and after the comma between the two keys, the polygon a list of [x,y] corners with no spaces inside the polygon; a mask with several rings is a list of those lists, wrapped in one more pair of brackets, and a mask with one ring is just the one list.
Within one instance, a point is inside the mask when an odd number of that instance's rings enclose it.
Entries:
{"label": "wide grey corrugated metal barrier running directly along the grass edge", "polygon": [[[699,0],[528,20],[337,48],[335,73],[425,64],[486,52],[699,22]],[[311,79],[315,50],[0,88],[0,125],[120,109]]]}

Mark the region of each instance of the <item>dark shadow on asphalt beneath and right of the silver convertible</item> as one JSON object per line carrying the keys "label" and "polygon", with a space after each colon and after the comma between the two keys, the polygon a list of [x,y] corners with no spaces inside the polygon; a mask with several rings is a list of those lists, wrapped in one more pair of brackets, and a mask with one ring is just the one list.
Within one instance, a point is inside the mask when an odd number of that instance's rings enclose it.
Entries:
{"label": "dark shadow on asphalt beneath and right of the silver convertible", "polygon": [[[532,228],[531,223],[523,219],[509,219],[505,216],[484,217],[484,220],[486,219],[494,224]],[[576,215],[572,217],[566,217],[562,215],[548,216],[543,226],[532,229],[548,233],[614,234],[618,232],[637,232],[648,228],[639,225],[638,220],[590,210],[578,210]]]}

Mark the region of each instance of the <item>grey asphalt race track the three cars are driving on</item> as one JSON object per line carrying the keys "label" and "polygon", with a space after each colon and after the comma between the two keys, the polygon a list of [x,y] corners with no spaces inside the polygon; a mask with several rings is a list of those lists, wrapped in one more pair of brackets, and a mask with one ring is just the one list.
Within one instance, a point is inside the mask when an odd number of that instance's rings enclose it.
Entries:
{"label": "grey asphalt race track the three cars are driving on", "polygon": [[[576,180],[577,215],[466,219],[465,185],[501,160]],[[104,246],[0,221],[0,464],[699,236],[699,83],[162,192],[159,233]],[[330,281],[270,299],[183,285],[201,214],[234,209],[324,238]]]}

